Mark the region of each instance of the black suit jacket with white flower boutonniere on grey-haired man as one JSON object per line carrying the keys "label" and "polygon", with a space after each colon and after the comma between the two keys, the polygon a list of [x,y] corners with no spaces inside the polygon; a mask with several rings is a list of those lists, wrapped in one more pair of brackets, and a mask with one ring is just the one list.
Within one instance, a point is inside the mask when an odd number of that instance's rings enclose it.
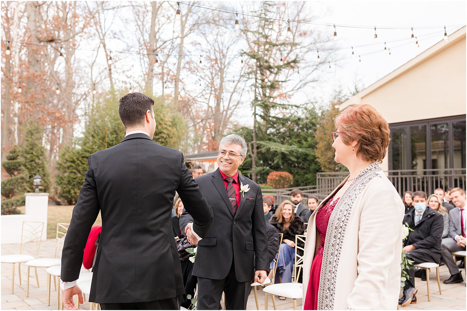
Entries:
{"label": "black suit jacket with white flower boutonniere on grey-haired man", "polygon": [[[261,188],[240,173],[239,179],[244,185],[248,184],[250,190],[241,196],[234,216],[219,169],[196,178],[199,188],[212,207],[214,221],[206,237],[198,242],[192,272],[194,276],[224,279],[230,271],[232,260],[239,282],[249,282],[253,278],[254,267],[256,270],[269,270]],[[185,228],[192,221],[187,209],[180,216],[180,228]]]}

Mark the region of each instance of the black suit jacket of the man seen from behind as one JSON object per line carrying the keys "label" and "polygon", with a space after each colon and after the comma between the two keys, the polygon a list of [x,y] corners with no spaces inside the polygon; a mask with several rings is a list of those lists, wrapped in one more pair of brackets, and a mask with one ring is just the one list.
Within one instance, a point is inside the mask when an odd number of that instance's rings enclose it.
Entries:
{"label": "black suit jacket of the man seen from behind", "polygon": [[175,191],[204,237],[212,210],[180,151],[132,134],[88,158],[62,253],[61,278],[78,279],[83,250],[99,210],[102,232],[89,301],[132,303],[184,293],[170,210]]}

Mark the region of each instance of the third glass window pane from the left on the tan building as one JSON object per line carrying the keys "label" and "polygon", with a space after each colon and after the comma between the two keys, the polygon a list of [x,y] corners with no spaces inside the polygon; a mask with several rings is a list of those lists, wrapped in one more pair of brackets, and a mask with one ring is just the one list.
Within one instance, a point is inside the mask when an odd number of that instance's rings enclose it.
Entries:
{"label": "third glass window pane from the left on the tan building", "polygon": [[432,124],[430,130],[432,169],[447,169],[449,168],[449,124]]}

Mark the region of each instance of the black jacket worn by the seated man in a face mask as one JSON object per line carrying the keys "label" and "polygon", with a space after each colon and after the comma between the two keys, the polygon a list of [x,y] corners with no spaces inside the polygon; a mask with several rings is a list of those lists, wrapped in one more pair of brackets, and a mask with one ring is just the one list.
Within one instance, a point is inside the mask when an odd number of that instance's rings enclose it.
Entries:
{"label": "black jacket worn by the seated man in a face mask", "polygon": [[441,236],[443,234],[444,221],[443,216],[435,212],[428,206],[423,213],[420,222],[415,225],[415,209],[405,214],[403,224],[408,223],[413,229],[410,231],[409,237],[404,241],[404,246],[413,245],[415,249],[424,250],[430,253],[432,257],[438,260],[441,259]]}

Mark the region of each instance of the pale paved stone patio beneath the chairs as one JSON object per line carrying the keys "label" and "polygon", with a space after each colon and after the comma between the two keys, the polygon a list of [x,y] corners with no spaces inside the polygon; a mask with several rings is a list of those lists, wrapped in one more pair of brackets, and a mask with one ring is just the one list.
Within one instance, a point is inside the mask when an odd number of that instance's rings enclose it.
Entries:
{"label": "pale paved stone patio beneath the chairs", "polygon": [[[1,255],[15,254],[20,250],[19,244],[1,245]],[[32,245],[26,247],[25,254],[34,255],[35,249]],[[55,239],[42,241],[39,257],[53,257],[55,252]],[[39,285],[35,281],[34,270],[31,269],[29,284],[29,297],[26,297],[26,267],[21,267],[21,281],[18,279],[18,265],[15,268],[14,294],[11,294],[11,264],[1,264],[1,309],[2,310],[56,310],[57,292],[54,290],[53,281],[51,282],[50,306],[47,305],[47,273],[44,268],[38,268]],[[465,279],[465,270],[462,270]],[[449,271],[446,266],[439,268],[441,282],[449,277]],[[411,304],[400,310],[466,310],[466,282],[458,284],[441,283],[442,295],[439,295],[438,284],[436,282],[436,271],[430,273],[430,292],[431,301],[428,301],[426,282],[419,278],[415,279],[418,289],[417,304]],[[377,297],[368,297],[368,299],[377,299]],[[264,308],[264,293],[261,288],[258,289],[258,302],[260,309]],[[291,299],[279,300],[276,298],[277,309],[293,310]],[[272,300],[269,297],[268,309],[273,310]],[[89,303],[80,305],[80,309],[89,309]],[[253,290],[248,298],[248,310],[255,310],[255,296]],[[297,309],[302,309],[302,299],[297,300]]]}

